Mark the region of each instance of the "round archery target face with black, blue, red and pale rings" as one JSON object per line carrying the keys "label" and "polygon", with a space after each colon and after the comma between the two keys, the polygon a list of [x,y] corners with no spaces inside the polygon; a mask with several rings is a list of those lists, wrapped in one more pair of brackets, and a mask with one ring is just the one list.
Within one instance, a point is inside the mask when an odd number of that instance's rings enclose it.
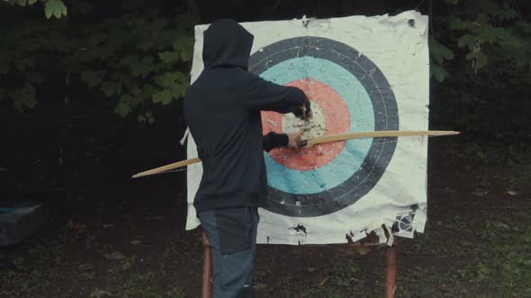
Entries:
{"label": "round archery target face with black, blue, red and pale rings", "polygon": [[[249,71],[268,81],[301,88],[313,120],[303,138],[345,132],[398,130],[398,108],[382,71],[355,48],[317,37],[284,39],[262,48]],[[264,134],[300,129],[292,114],[262,114]],[[356,203],[383,175],[396,137],[354,139],[265,153],[267,210],[280,215],[329,215]]]}

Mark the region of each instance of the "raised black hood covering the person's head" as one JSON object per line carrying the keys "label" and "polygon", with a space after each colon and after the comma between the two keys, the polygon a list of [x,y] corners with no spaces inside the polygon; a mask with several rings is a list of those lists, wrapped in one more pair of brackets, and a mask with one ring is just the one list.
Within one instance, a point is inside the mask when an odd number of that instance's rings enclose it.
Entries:
{"label": "raised black hood covering the person's head", "polygon": [[202,62],[204,68],[241,67],[247,70],[255,37],[238,22],[221,19],[204,31]]}

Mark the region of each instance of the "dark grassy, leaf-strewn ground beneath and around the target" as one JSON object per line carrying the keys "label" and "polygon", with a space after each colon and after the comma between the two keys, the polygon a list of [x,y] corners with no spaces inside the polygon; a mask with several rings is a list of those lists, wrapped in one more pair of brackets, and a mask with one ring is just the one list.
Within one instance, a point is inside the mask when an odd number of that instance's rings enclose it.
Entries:
{"label": "dark grassy, leaf-strewn ground beneath and around the target", "polygon": [[[437,147],[426,231],[401,239],[398,296],[531,297],[531,175],[518,167],[526,163],[500,166]],[[200,233],[184,232],[185,192],[175,184],[184,174],[94,177],[72,182],[65,218],[0,250],[0,296],[199,297]],[[385,250],[259,246],[258,294],[382,297],[384,260]]]}

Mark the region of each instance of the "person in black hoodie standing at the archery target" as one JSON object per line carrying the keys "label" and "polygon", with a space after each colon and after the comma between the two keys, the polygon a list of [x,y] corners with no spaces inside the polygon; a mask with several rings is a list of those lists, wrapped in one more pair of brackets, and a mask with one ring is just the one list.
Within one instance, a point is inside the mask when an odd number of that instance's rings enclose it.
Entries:
{"label": "person in black hoodie standing at the archery target", "polygon": [[204,32],[204,69],[184,98],[203,171],[193,205],[211,243],[216,298],[253,296],[257,207],[267,204],[263,151],[296,147],[301,136],[263,136],[260,111],[311,116],[302,90],[247,71],[253,39],[238,22],[213,22]]}

